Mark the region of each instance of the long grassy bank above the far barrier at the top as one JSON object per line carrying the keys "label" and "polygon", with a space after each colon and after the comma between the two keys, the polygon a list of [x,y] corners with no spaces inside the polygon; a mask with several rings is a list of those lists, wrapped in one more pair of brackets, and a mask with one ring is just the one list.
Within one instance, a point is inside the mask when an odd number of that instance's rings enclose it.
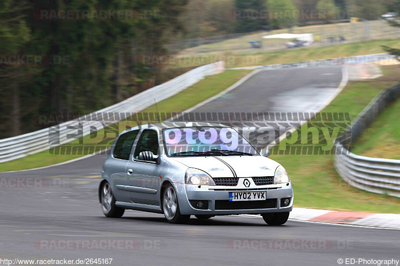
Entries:
{"label": "long grassy bank above the far barrier at the top", "polygon": [[371,40],[371,41],[353,42],[348,44],[339,44],[333,46],[287,49],[284,51],[276,51],[276,52],[253,52],[248,54],[221,53],[215,57],[212,57],[211,54],[198,54],[198,55],[185,54],[182,55],[182,57],[188,58],[190,60],[185,61],[184,59],[181,59],[179,62],[186,62],[186,63],[177,64],[174,65],[173,67],[180,68],[180,67],[196,66],[195,62],[206,61],[212,63],[213,61],[218,61],[218,60],[224,60],[226,64],[225,67],[227,68],[293,63],[293,62],[302,62],[309,60],[383,53],[385,51],[383,50],[382,45],[394,48],[400,48],[400,39]]}

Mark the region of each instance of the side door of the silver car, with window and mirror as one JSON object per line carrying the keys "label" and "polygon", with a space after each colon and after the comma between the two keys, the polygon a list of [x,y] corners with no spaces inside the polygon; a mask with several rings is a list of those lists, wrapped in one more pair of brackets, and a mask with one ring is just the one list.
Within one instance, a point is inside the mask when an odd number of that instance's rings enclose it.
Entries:
{"label": "side door of the silver car, with window and mirror", "polygon": [[159,187],[162,162],[139,160],[139,153],[151,151],[159,155],[158,132],[153,129],[144,129],[134,148],[132,159],[126,164],[128,173],[126,185],[129,187],[129,198],[133,203],[159,205]]}

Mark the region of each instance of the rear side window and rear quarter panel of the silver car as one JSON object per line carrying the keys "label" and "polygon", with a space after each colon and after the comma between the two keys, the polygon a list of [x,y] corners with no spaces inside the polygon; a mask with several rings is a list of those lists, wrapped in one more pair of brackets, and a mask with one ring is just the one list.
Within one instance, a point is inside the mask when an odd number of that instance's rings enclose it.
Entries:
{"label": "rear side window and rear quarter panel of the silver car", "polygon": [[107,160],[105,168],[110,171],[111,189],[115,200],[120,202],[130,202],[126,191],[126,164],[139,130],[128,131],[121,134],[115,142],[112,150],[111,159]]}

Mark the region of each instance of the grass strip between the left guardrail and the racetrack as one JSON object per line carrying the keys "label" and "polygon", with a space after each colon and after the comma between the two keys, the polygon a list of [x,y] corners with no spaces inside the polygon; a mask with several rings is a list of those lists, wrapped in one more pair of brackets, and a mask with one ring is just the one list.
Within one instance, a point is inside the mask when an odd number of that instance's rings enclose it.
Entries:
{"label": "grass strip between the left guardrail and the racetrack", "polygon": [[[234,84],[240,78],[242,78],[247,73],[251,72],[250,70],[233,70],[233,71],[225,71],[221,74],[207,76],[203,80],[200,80],[196,84],[190,86],[189,88],[179,92],[178,94],[165,99],[157,104],[157,108],[159,112],[172,113],[172,112],[182,112],[197,103],[200,103],[211,96],[223,91],[228,88],[230,85]],[[142,111],[145,112],[156,112],[155,105],[152,105]],[[155,122],[155,121],[145,121],[147,122]],[[136,126],[136,122],[134,121],[122,121],[119,123],[118,132],[126,129],[126,126]],[[106,129],[107,130],[107,129]],[[112,129],[107,130],[111,132]],[[98,136],[104,135],[104,130],[100,130],[97,132]],[[115,133],[108,133],[107,137],[115,138]],[[79,143],[83,143],[80,144]],[[83,137],[83,139],[75,140],[70,142],[70,145],[64,145],[64,147],[85,147],[85,144],[96,143],[93,141],[89,135]],[[112,144],[112,141],[107,142],[104,145],[96,145],[99,149],[108,147]],[[87,147],[87,146],[86,146]],[[16,171],[16,170],[25,170],[32,169],[47,165],[52,165],[56,163],[65,162],[68,160],[72,160],[75,158],[79,158],[81,156],[86,155],[87,153],[83,153],[81,155],[73,155],[73,154],[50,154],[49,151],[43,151],[40,153],[32,154],[14,161],[5,162],[0,164],[0,172],[5,171]]]}

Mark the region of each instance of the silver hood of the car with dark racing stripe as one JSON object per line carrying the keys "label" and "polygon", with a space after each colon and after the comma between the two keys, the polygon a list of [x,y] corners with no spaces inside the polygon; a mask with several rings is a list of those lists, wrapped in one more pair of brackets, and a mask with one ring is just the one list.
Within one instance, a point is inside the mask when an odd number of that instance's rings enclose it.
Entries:
{"label": "silver hood of the car with dark racing stripe", "polygon": [[273,176],[279,164],[262,156],[207,156],[174,157],[187,167],[200,169],[211,177]]}

